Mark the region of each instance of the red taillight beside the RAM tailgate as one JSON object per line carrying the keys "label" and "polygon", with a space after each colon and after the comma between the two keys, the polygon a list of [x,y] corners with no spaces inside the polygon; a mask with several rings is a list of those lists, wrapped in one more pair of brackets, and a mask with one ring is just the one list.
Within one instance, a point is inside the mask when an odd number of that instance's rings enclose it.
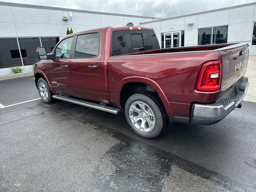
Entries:
{"label": "red taillight beside the RAM tailgate", "polygon": [[218,91],[221,79],[221,60],[210,61],[203,65],[196,89],[198,91]]}

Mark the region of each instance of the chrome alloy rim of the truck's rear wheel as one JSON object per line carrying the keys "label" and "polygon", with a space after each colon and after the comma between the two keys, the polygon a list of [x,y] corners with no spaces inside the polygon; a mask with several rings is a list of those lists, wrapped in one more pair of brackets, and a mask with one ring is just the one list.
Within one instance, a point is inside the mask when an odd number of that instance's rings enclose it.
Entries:
{"label": "chrome alloy rim of the truck's rear wheel", "polygon": [[144,102],[136,101],[129,108],[132,124],[141,132],[150,132],[155,126],[152,109]]}

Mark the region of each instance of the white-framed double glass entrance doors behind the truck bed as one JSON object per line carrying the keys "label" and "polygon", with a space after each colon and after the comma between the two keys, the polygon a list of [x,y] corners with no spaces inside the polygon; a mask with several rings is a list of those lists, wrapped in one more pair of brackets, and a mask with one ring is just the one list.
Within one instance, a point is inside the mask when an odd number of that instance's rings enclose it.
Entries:
{"label": "white-framed double glass entrance doors behind the truck bed", "polygon": [[180,47],[180,31],[164,34],[164,48]]}

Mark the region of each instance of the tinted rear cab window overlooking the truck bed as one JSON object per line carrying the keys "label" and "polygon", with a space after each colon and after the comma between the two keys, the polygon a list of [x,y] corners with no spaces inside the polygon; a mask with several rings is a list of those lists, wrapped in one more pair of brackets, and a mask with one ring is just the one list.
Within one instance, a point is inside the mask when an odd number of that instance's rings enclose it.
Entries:
{"label": "tinted rear cab window overlooking the truck bed", "polygon": [[112,34],[112,56],[158,48],[153,30],[123,30]]}

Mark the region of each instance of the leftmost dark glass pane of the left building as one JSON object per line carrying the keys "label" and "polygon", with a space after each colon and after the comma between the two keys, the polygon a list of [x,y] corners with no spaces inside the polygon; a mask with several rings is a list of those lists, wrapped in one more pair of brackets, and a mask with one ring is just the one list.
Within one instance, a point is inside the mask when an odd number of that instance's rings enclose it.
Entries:
{"label": "leftmost dark glass pane of the left building", "polygon": [[16,38],[0,38],[0,68],[22,66]]}

